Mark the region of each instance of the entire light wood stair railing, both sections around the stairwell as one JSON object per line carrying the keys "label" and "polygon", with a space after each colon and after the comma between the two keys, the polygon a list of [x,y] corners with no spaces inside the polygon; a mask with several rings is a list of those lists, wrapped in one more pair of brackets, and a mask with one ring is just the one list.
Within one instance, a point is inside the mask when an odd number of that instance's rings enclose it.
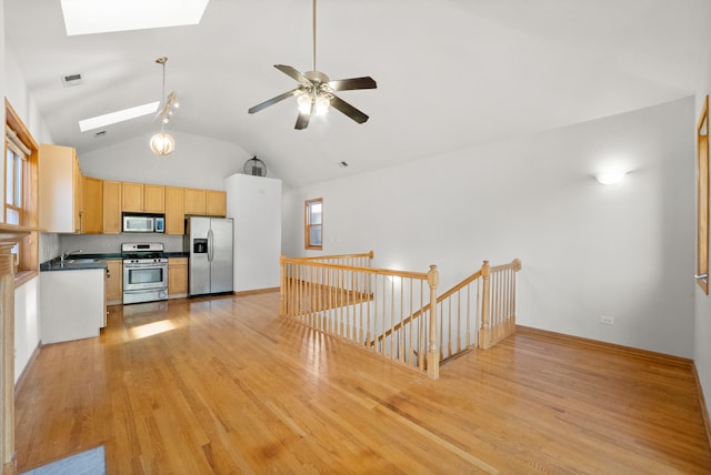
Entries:
{"label": "entire light wood stair railing, both sections around the stairwell", "polygon": [[372,269],[372,256],[282,255],[281,315],[432,378],[448,360],[471,347],[489,348],[515,331],[518,259],[497,266],[484,261],[438,297],[437,266],[425,273]]}

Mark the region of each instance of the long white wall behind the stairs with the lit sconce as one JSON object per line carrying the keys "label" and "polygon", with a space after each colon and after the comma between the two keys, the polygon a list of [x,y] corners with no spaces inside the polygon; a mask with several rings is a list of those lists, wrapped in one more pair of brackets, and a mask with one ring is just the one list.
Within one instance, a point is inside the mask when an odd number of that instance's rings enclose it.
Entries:
{"label": "long white wall behind the stairs with the lit sconce", "polygon": [[[692,357],[693,122],[690,98],[289,190],[282,246],[304,255],[303,201],[323,196],[324,254],[437,264],[441,292],[519,257],[519,323]],[[603,186],[608,165],[632,172]]]}

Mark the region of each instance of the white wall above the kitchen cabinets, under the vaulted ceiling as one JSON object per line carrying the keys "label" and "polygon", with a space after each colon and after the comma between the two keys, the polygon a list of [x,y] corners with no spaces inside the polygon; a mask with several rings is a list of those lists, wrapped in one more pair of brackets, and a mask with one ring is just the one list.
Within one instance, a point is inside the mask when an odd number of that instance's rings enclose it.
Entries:
{"label": "white wall above the kitchen cabinets, under the vaulted ceiling", "polygon": [[148,146],[150,134],[146,134],[114,146],[79,152],[81,171],[102,180],[223,190],[223,180],[239,172],[252,158],[233,143],[171,133],[176,151],[168,156],[154,155]]}

